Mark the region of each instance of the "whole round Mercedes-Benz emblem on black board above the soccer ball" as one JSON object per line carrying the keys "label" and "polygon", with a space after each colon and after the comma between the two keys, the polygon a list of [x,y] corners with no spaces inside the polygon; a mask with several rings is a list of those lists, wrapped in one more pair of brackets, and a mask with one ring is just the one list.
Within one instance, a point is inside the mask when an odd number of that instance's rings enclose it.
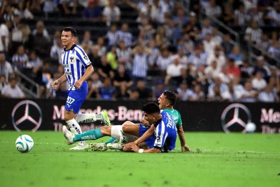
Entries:
{"label": "whole round Mercedes-Benz emblem on black board above the soccer ball", "polygon": [[[38,117],[39,116],[39,117]],[[36,131],[42,123],[42,110],[34,101],[24,100],[15,105],[12,111],[12,123],[17,131]]]}

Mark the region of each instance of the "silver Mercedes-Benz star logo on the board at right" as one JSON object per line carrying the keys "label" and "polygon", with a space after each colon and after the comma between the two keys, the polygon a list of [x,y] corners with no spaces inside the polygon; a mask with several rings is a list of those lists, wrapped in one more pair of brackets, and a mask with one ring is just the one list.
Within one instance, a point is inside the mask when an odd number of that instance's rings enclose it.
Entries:
{"label": "silver Mercedes-Benz star logo on the board at right", "polygon": [[[228,120],[227,114],[228,114],[228,112],[230,112],[230,110],[234,110],[233,117],[231,120],[226,122]],[[241,119],[240,114],[246,115],[247,122],[246,121],[244,122],[244,120]],[[225,110],[223,111],[222,116],[221,116],[221,121],[222,121],[223,130],[226,133],[230,132],[230,130],[228,128],[231,127],[232,125],[239,125],[239,126],[244,127],[244,129],[241,132],[245,133],[246,124],[251,122],[251,112],[245,105],[242,105],[239,103],[234,103],[234,104],[227,106],[227,108],[225,108]]]}

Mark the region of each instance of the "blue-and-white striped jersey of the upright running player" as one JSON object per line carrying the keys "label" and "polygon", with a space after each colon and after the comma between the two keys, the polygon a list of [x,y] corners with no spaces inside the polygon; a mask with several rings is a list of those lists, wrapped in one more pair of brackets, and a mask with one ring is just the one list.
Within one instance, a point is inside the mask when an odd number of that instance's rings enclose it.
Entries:
{"label": "blue-and-white striped jersey of the upright running player", "polygon": [[[85,74],[85,69],[91,65],[91,62],[85,51],[76,44],[74,44],[71,49],[66,50],[64,48],[61,58],[69,84],[68,90],[75,90],[75,82]],[[83,85],[85,84],[83,83]]]}

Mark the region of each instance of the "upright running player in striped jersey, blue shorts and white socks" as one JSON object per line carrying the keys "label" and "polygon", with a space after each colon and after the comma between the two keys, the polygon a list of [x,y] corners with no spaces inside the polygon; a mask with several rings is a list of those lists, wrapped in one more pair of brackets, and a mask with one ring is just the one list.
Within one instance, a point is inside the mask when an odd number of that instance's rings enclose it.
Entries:
{"label": "upright running player in striped jersey, blue shorts and white socks", "polygon": [[[76,30],[72,27],[65,27],[62,31],[61,41],[65,46],[61,56],[64,74],[59,79],[52,82],[52,88],[57,89],[60,83],[68,81],[69,89],[67,91],[64,120],[71,132],[74,134],[81,134],[82,131],[78,122],[94,122],[100,120],[107,125],[111,123],[106,111],[96,115],[77,115],[88,94],[86,79],[92,74],[93,67],[85,51],[80,46],[74,44],[76,34]],[[85,148],[88,148],[88,144],[85,141],[80,141],[76,147],[71,149],[80,150]]]}

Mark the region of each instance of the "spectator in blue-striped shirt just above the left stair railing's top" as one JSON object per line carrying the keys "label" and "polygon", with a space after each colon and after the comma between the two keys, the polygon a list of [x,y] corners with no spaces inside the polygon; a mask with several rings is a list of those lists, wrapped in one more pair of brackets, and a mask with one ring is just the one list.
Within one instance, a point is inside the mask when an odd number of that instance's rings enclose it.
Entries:
{"label": "spectator in blue-striped shirt just above the left stair railing's top", "polygon": [[15,71],[18,71],[22,68],[25,68],[28,62],[28,56],[26,53],[24,53],[24,47],[19,46],[17,48],[17,53],[13,55],[12,63],[13,63],[13,69]]}

